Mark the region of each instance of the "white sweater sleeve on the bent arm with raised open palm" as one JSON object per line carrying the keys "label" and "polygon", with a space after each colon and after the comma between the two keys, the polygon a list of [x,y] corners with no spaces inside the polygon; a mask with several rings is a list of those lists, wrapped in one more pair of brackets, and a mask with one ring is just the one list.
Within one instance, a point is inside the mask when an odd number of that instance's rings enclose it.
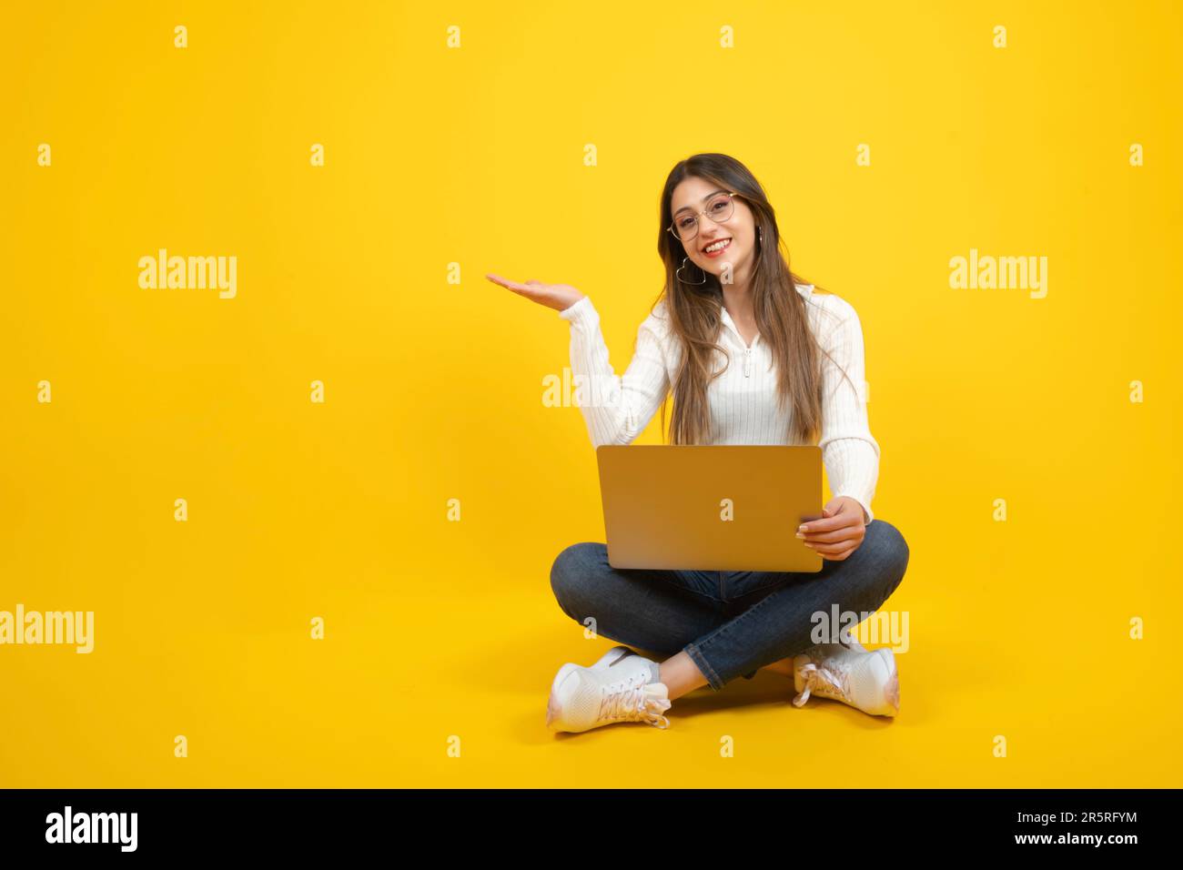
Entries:
{"label": "white sweater sleeve on the bent arm with raised open palm", "polygon": [[587,296],[558,312],[571,324],[571,375],[592,445],[631,444],[670,391],[657,322],[636,331],[636,350],[623,375],[608,362],[600,314]]}

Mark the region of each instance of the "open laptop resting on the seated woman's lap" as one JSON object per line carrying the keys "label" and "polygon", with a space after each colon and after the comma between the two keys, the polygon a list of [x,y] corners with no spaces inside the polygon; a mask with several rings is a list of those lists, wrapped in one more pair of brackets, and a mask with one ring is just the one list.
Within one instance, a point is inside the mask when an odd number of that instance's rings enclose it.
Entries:
{"label": "open laptop resting on the seated woman's lap", "polygon": [[796,537],[822,516],[816,445],[603,444],[596,463],[613,568],[822,568]]}

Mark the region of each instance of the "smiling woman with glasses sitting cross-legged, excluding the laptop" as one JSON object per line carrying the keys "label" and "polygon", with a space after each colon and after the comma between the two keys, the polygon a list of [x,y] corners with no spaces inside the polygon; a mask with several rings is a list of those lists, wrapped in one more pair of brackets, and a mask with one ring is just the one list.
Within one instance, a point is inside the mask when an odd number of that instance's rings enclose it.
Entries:
{"label": "smiling woman with glasses sitting cross-legged, excluding the laptop", "polygon": [[595,446],[632,443],[659,405],[665,428],[672,391],[672,443],[819,444],[835,494],[823,518],[796,533],[822,555],[817,573],[616,569],[603,543],[564,549],[551,569],[563,612],[594,618],[596,633],[640,652],[615,646],[590,666],[560,668],[547,704],[552,730],[666,728],[672,701],[761,668],[794,681],[797,707],[812,692],[871,715],[899,710],[890,649],[867,651],[836,626],[829,643],[812,636],[835,605],[878,610],[903,580],[909,549],[871,510],[879,444],[867,426],[858,315],[799,281],[780,244],[746,167],[723,154],[679,162],[661,195],[665,288],[622,376],[590,298],[568,284],[486,276],[571,324],[573,374],[609,399],[581,402]]}

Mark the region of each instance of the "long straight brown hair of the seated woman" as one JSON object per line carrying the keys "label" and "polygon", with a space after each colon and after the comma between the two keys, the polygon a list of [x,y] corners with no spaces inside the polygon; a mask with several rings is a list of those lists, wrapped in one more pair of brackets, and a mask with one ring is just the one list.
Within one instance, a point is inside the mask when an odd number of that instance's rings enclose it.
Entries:
{"label": "long straight brown hair of the seated woman", "polygon": [[[788,247],[782,252],[781,233],[764,189],[743,163],[726,154],[694,154],[670,172],[661,193],[661,226],[658,230],[658,253],[666,268],[665,288],[653,303],[665,298],[671,328],[681,343],[681,362],[673,381],[672,444],[710,444],[710,405],[706,388],[724,369],[713,372],[715,353],[725,353],[718,344],[722,330],[723,286],[717,276],[687,263],[684,275],[705,276],[705,284],[686,284],[677,270],[685,259],[681,243],[667,232],[673,223],[674,188],[687,176],[713,182],[738,194],[751,208],[758,234],[756,259],[749,292],[761,340],[771,348],[777,369],[777,406],[793,407],[793,431],[786,433],[790,444],[812,444],[821,431],[822,372],[820,347],[809,329],[806,299],[794,284],[809,282],[789,270]],[[833,359],[833,357],[829,357]],[[730,362],[728,363],[730,365]],[[843,376],[846,373],[842,373]],[[666,405],[661,402],[661,428],[666,428]]]}

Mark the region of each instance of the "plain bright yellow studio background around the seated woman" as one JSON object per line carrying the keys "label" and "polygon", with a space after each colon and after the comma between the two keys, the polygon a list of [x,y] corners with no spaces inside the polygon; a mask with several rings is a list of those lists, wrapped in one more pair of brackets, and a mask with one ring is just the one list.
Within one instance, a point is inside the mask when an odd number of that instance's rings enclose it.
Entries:
{"label": "plain bright yellow studio background around the seated woman", "polygon": [[[1181,33],[1148,1],[13,7],[0,610],[93,610],[96,647],[0,647],[0,785],[1178,786]],[[612,645],[549,585],[599,484],[541,400],[568,324],[483,275],[587,292],[623,370],[698,150],[861,317],[894,722],[762,672],[667,732],[544,729]],[[141,290],[159,247],[237,256],[237,298]],[[1047,256],[1047,297],[950,289],[971,247]]]}

